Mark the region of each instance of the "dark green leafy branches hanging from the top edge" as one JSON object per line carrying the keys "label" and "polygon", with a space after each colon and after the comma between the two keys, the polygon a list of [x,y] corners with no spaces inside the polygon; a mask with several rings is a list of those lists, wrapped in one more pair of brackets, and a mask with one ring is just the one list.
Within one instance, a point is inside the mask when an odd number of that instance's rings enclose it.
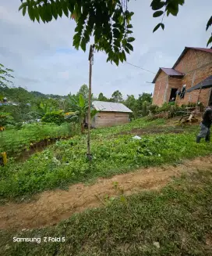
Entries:
{"label": "dark green leafy branches hanging from the top edge", "polygon": [[[132,0],[131,0],[132,1]],[[30,20],[51,22],[58,16],[71,16],[76,21],[76,34],[73,37],[73,46],[76,49],[86,47],[90,38],[94,36],[94,45],[97,51],[104,51],[108,55],[107,61],[118,65],[119,61],[126,61],[125,53],[133,51],[131,18],[134,13],[128,9],[129,0],[21,0],[23,16],[30,16]],[[159,27],[164,30],[164,15],[178,15],[179,5],[185,0],[152,0],[151,9],[154,17],[162,16],[161,23],[154,27],[154,32]],[[207,30],[212,25],[212,16],[207,23]],[[212,43],[212,36],[207,45]]]}

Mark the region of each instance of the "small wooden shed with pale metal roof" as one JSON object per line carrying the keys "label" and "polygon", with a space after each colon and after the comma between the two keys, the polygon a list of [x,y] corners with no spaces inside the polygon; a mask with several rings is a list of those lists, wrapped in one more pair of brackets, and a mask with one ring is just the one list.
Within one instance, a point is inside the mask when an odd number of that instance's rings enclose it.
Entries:
{"label": "small wooden shed with pale metal roof", "polygon": [[94,101],[92,107],[98,111],[91,121],[94,128],[129,123],[129,114],[132,113],[132,110],[122,103]]}

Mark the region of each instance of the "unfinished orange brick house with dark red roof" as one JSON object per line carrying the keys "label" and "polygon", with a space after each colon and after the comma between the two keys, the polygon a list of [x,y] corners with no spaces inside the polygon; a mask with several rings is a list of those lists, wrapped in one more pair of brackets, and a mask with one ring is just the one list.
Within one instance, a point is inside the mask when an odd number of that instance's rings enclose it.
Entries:
{"label": "unfinished orange brick house with dark red roof", "polygon": [[[153,83],[153,104],[161,106],[176,97],[178,88],[186,90],[202,83],[212,75],[212,49],[185,47],[172,68],[161,67]],[[178,105],[200,102],[207,106],[212,100],[212,88],[186,92],[184,99],[177,97]]]}

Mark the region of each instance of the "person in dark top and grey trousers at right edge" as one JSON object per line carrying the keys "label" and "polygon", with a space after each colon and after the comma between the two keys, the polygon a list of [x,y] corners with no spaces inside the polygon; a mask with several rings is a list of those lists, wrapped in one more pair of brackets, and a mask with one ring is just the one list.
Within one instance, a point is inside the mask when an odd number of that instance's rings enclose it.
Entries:
{"label": "person in dark top and grey trousers at right edge", "polygon": [[200,124],[200,133],[196,137],[196,142],[200,143],[202,138],[205,138],[206,142],[210,142],[210,126],[212,124],[212,102],[207,107],[207,110],[203,114],[203,121]]}

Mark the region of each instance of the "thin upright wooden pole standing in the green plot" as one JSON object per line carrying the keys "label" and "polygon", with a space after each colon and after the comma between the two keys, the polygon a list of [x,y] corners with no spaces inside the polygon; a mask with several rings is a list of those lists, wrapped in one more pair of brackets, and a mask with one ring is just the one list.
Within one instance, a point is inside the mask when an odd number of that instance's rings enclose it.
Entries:
{"label": "thin upright wooden pole standing in the green plot", "polygon": [[92,65],[94,64],[94,45],[90,45],[90,52],[89,52],[88,60],[89,60],[89,95],[88,95],[87,158],[91,162],[92,156],[90,154],[90,126],[91,126],[90,106],[91,106]]}

